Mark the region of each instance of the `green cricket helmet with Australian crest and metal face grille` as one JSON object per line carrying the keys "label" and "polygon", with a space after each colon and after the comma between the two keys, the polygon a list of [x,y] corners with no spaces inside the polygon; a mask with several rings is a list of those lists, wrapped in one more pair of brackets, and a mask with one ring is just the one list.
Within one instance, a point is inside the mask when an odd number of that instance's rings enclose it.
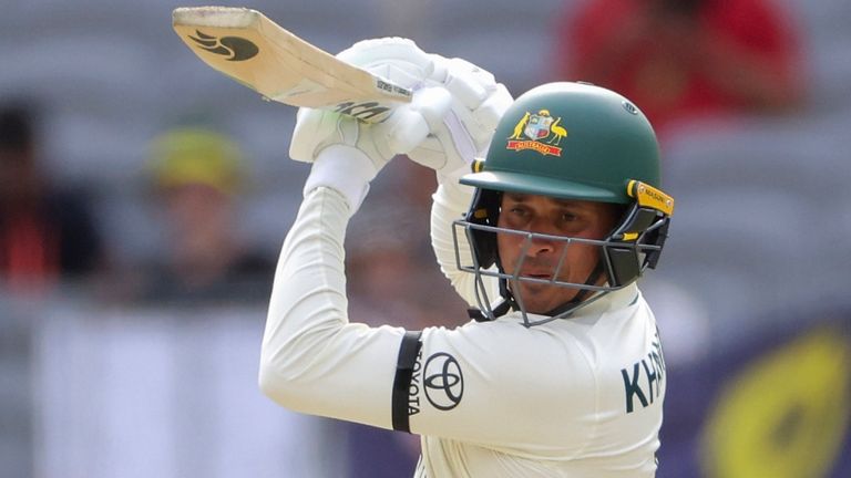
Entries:
{"label": "green cricket helmet with Australian crest and metal face grille", "polygon": [[[455,240],[462,230],[473,262],[462,264],[457,256],[461,270],[476,274],[479,304],[486,319],[510,308],[522,310],[522,298],[513,297],[509,287],[513,281],[543,281],[582,290],[572,303],[547,314],[548,320],[526,322],[534,325],[567,316],[604,293],[634,282],[647,267],[656,267],[674,199],[660,190],[659,147],[653,127],[622,95],[588,83],[567,82],[526,92],[505,112],[486,158],[475,162],[473,170],[461,178],[461,184],[476,188],[472,205],[454,225]],[[609,202],[622,205],[624,214],[602,240],[560,238],[567,245],[601,248],[599,263],[585,283],[558,280],[561,264],[550,280],[524,278],[502,269],[496,235],[521,233],[530,245],[542,236],[498,227],[503,193]],[[491,306],[482,277],[499,278],[503,300],[496,309]],[[605,278],[603,285],[601,277]],[[592,298],[594,292],[601,293]]]}

